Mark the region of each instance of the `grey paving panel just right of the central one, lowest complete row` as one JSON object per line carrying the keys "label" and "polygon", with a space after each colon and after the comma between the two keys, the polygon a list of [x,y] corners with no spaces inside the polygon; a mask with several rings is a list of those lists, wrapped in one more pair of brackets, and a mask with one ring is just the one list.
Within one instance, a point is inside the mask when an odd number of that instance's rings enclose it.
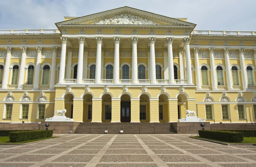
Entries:
{"label": "grey paving panel just right of the central one, lowest complete row", "polygon": [[158,155],[165,162],[201,162],[189,155]]}

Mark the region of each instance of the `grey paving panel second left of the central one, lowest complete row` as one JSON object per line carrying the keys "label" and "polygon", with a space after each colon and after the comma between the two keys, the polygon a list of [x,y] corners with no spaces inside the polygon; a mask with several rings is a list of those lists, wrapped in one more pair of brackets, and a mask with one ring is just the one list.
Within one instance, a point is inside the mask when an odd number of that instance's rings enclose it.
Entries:
{"label": "grey paving panel second left of the central one, lowest complete row", "polygon": [[44,161],[45,159],[48,159],[52,156],[53,155],[23,155],[13,159],[9,159],[7,161]]}

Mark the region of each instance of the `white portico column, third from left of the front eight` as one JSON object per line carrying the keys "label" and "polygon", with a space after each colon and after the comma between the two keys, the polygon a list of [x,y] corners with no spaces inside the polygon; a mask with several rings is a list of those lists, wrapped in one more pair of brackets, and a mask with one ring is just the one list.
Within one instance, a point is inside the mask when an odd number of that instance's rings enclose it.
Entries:
{"label": "white portico column, third from left of the front eight", "polygon": [[96,53],[96,72],[95,72],[95,83],[100,84],[100,78],[101,78],[101,57],[102,57],[102,41],[103,37],[96,37],[97,42],[97,53]]}

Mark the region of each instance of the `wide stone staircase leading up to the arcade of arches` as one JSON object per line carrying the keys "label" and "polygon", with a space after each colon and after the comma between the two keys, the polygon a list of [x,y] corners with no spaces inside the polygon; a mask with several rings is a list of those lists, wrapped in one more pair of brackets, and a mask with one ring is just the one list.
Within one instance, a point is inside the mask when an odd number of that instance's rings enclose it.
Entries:
{"label": "wide stone staircase leading up to the arcade of arches", "polygon": [[[105,133],[105,130],[108,130]],[[176,133],[171,123],[96,123],[81,122],[76,134],[170,134]]]}

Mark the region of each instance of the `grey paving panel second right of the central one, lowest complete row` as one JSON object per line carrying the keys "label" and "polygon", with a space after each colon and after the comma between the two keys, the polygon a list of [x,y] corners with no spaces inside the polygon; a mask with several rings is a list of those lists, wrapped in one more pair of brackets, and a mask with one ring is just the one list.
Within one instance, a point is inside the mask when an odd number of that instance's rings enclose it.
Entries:
{"label": "grey paving panel second right of the central one, lowest complete row", "polygon": [[244,160],[242,159],[238,159],[236,157],[227,156],[227,155],[214,155],[214,156],[199,155],[199,156],[212,162],[244,162]]}

